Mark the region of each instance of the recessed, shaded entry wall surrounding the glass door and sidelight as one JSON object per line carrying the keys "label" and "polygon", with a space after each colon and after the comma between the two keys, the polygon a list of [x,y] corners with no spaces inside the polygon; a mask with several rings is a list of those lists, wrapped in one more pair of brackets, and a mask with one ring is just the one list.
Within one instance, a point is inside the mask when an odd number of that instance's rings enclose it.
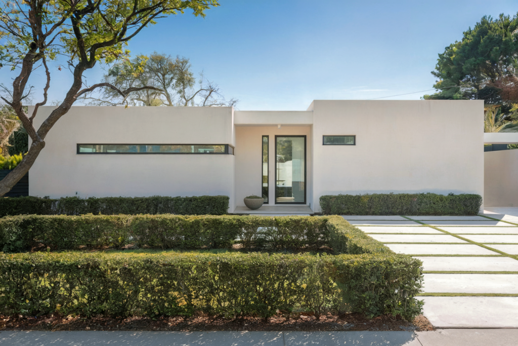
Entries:
{"label": "recessed, shaded entry wall surrounding the glass door and sidelight", "polygon": [[[237,112],[236,112],[237,113]],[[276,135],[305,135],[306,136],[306,201],[311,202],[312,195],[312,159],[310,126],[236,126],[236,206],[244,206],[243,198],[261,196],[262,188],[262,141],[268,137],[269,163],[269,196],[268,205],[275,205],[275,136]],[[312,204],[311,204],[312,206]]]}

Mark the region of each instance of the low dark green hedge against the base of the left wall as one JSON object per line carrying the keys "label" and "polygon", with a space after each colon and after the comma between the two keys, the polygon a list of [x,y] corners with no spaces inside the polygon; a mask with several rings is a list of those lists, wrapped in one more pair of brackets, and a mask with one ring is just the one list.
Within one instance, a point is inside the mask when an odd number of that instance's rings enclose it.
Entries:
{"label": "low dark green hedge against the base of the left wall", "polygon": [[6,215],[83,215],[83,214],[177,214],[223,215],[228,210],[228,196],[196,197],[39,197],[0,198],[0,217]]}

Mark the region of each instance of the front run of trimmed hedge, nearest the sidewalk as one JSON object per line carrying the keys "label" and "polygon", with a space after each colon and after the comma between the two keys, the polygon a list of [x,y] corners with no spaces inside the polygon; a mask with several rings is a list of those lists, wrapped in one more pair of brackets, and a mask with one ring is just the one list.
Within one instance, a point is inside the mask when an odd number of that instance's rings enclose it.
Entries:
{"label": "front run of trimmed hedge, nearest the sidewalk", "polygon": [[422,310],[421,261],[402,255],[34,253],[0,255],[5,314],[269,317],[277,311]]}

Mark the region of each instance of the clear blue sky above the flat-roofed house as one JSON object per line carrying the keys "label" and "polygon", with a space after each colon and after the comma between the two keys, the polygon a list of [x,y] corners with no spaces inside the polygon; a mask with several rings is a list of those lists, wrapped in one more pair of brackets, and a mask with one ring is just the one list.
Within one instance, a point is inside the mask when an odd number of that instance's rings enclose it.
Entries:
{"label": "clear blue sky above the flat-roofed house", "polygon": [[[130,43],[191,59],[242,110],[304,110],[315,99],[374,99],[431,89],[437,54],[484,15],[514,15],[515,0],[220,0],[205,19],[162,19]],[[323,5],[323,6],[322,6]],[[70,85],[52,66],[50,100]],[[104,71],[88,73],[93,84]],[[43,71],[33,84],[42,85]],[[0,70],[8,82],[12,74]],[[418,100],[412,93],[387,100]],[[35,94],[34,102],[39,94]]]}

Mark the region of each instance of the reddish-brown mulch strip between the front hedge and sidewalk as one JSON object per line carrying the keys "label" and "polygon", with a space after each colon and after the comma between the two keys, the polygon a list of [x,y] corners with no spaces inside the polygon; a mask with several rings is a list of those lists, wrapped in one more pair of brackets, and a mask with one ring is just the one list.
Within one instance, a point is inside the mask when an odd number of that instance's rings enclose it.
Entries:
{"label": "reddish-brown mulch strip between the front hedge and sidewalk", "polygon": [[331,330],[434,330],[430,322],[420,315],[409,323],[399,317],[382,315],[367,319],[362,314],[322,315],[320,320],[311,314],[295,317],[276,315],[268,322],[258,317],[223,319],[197,315],[183,317],[82,317],[62,316],[5,316],[0,315],[0,330],[162,330],[162,331],[212,331],[212,330],[274,330],[274,331],[331,331]]}

